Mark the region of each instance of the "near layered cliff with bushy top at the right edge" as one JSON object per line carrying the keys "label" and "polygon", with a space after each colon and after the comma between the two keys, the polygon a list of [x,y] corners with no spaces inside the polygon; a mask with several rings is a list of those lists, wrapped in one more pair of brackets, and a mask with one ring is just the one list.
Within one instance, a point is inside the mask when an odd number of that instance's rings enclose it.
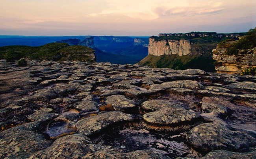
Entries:
{"label": "near layered cliff with bushy top at the right edge", "polygon": [[215,69],[221,73],[241,73],[256,67],[256,29],[239,40],[226,40],[213,49]]}

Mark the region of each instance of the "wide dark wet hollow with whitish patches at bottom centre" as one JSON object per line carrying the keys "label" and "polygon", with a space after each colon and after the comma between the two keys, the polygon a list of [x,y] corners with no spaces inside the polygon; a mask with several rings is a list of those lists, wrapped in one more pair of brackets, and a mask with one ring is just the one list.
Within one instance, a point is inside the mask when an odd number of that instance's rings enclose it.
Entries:
{"label": "wide dark wet hollow with whitish patches at bottom centre", "polygon": [[180,135],[157,134],[145,129],[134,130],[131,128],[106,132],[101,136],[93,138],[100,145],[110,145],[131,152],[136,150],[150,150],[169,157],[184,157],[191,154],[191,149],[181,141]]}

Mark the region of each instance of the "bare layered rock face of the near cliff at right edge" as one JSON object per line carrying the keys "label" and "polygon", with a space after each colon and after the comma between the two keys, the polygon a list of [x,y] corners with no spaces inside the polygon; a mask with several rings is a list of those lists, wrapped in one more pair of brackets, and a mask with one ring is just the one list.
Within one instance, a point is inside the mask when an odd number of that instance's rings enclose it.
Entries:
{"label": "bare layered rock face of the near cliff at right edge", "polygon": [[219,73],[240,73],[244,69],[256,67],[256,47],[239,50],[238,54],[228,55],[224,47],[213,49],[213,60],[217,61],[215,69]]}

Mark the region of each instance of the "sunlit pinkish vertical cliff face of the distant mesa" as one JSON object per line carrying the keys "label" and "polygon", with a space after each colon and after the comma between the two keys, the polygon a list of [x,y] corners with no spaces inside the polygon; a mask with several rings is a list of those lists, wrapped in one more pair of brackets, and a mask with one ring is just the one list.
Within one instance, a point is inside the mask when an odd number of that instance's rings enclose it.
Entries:
{"label": "sunlit pinkish vertical cliff face of the distant mesa", "polygon": [[190,53],[191,45],[189,40],[155,40],[149,38],[148,54],[154,56],[178,54],[184,56]]}

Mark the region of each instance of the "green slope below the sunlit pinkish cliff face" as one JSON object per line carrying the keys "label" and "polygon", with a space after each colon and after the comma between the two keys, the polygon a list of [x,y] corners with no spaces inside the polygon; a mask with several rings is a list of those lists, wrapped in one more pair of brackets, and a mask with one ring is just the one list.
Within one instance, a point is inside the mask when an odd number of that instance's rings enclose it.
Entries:
{"label": "green slope below the sunlit pinkish cliff face", "polygon": [[214,60],[211,54],[202,56],[178,56],[178,55],[162,55],[153,56],[148,55],[141,60],[138,64],[150,67],[171,68],[176,70],[184,69],[201,69],[206,72],[215,72]]}

